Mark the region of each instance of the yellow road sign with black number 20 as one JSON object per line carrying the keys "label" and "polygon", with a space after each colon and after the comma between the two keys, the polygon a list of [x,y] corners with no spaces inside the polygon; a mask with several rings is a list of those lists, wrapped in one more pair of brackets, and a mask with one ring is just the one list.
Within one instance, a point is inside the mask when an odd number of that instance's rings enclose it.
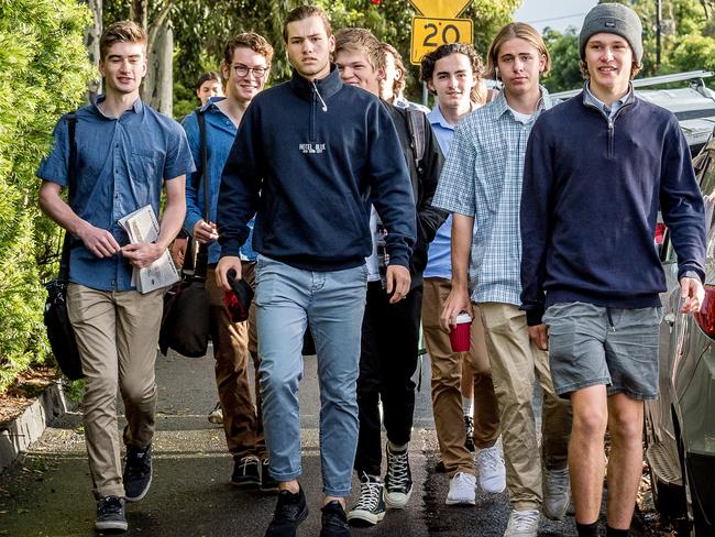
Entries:
{"label": "yellow road sign with black number 20", "polygon": [[[419,65],[425,54],[447,43],[472,44],[474,29],[471,19],[457,17],[472,0],[409,0],[419,15],[413,18],[409,61]],[[421,15],[421,17],[420,17]]]}

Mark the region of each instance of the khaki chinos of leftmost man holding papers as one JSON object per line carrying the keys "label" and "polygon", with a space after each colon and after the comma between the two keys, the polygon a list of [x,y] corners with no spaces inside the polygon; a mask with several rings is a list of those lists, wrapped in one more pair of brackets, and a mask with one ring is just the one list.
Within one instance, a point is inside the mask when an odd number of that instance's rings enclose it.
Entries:
{"label": "khaki chinos of leftmost man holding papers", "polygon": [[143,449],[154,436],[154,363],[164,289],[105,292],[69,284],[67,307],[86,375],[85,437],[97,498],[123,496],[117,387],[128,425],[124,445]]}

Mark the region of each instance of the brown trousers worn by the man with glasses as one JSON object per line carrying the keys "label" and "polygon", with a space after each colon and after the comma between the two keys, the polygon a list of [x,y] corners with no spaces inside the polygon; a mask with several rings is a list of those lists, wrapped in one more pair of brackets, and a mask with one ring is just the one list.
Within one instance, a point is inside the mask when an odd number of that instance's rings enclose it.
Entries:
{"label": "brown trousers worn by the man with glasses", "polygon": [[[255,263],[242,262],[242,277],[255,289]],[[265,459],[266,447],[261,417],[258,388],[258,352],[255,320],[255,300],[251,303],[249,320],[233,322],[223,305],[224,292],[216,283],[215,267],[209,267],[206,288],[211,303],[211,340],[216,360],[216,385],[223,412],[223,431],[229,452],[241,459],[255,456]],[[251,398],[249,359],[253,360],[254,394]]]}

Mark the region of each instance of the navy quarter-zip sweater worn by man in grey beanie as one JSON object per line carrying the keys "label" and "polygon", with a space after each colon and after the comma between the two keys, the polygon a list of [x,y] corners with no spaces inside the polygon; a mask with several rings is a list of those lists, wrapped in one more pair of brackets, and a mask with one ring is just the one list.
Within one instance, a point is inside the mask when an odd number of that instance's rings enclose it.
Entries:
{"label": "navy quarter-zip sweater worn by man in grey beanie", "polygon": [[556,303],[659,306],[659,207],[679,275],[703,280],[703,198],[675,117],[631,97],[609,121],[583,92],[544,112],[527,145],[520,209],[529,325]]}

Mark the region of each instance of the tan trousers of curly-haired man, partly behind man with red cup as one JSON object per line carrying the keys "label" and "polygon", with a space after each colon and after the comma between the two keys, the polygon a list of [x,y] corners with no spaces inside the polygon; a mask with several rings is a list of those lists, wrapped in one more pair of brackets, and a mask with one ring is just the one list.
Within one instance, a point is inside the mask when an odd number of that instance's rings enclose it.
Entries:
{"label": "tan trousers of curly-haired man, partly behind man with red cup", "polygon": [[474,373],[474,446],[494,446],[499,436],[499,414],[484,329],[476,306],[473,307],[470,351],[452,352],[449,333],[440,326],[440,314],[451,289],[446,278],[427,277],[424,284],[422,331],[432,364],[432,408],[440,456],[450,475],[465,472],[474,475],[472,453],[464,447],[464,412],[462,406],[463,365],[470,363]]}

